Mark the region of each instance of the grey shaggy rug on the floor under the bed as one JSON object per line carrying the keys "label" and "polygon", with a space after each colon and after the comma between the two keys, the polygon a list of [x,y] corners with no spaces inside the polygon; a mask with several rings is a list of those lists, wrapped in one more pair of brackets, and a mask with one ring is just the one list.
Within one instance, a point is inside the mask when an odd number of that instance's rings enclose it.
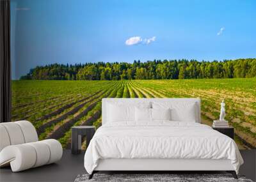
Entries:
{"label": "grey shaggy rug on the floor under the bed", "polygon": [[93,182],[93,181],[171,181],[171,182],[190,182],[190,181],[243,181],[253,182],[251,179],[246,179],[244,176],[238,176],[239,179],[234,179],[231,174],[94,174],[92,179],[88,179],[88,174],[78,175],[75,182]]}

